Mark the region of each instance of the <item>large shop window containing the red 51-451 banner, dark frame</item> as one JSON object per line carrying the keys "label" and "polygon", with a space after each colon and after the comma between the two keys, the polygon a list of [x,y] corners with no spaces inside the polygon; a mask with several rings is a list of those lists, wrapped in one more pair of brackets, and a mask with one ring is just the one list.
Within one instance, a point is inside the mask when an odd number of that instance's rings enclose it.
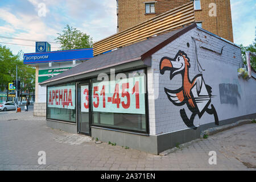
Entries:
{"label": "large shop window containing the red 51-451 banner, dark frame", "polygon": [[91,100],[92,125],[147,132],[144,69],[116,74],[110,81],[94,78]]}

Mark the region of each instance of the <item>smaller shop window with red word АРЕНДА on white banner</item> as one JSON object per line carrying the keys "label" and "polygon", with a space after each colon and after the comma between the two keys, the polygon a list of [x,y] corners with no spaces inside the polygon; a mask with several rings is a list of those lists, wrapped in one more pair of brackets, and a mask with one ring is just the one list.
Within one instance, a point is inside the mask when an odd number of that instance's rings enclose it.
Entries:
{"label": "smaller shop window with red word \u0410\u0420\u0415\u041d\u0414\u0410 on white banner", "polygon": [[47,119],[76,122],[75,82],[47,87]]}

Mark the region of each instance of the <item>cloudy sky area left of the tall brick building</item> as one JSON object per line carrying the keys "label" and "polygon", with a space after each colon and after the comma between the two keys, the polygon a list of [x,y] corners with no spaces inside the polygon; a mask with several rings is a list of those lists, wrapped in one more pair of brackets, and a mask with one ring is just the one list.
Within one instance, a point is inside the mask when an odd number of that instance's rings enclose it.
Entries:
{"label": "cloudy sky area left of the tall brick building", "polygon": [[[46,5],[46,17],[39,17],[39,3]],[[116,33],[116,1],[27,0],[0,6],[0,35],[54,42],[66,24],[85,32],[96,42]],[[6,39],[5,39],[6,40]],[[35,45],[33,42],[0,39],[0,42]],[[15,52],[34,52],[34,47],[11,46]],[[59,47],[59,44],[52,44]]]}

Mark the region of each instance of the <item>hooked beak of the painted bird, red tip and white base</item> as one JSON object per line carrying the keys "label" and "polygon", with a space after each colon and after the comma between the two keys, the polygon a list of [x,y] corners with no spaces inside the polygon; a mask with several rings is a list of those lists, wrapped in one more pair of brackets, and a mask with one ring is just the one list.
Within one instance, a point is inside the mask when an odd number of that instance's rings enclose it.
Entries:
{"label": "hooked beak of the painted bird, red tip and white base", "polygon": [[163,75],[166,70],[170,70],[172,75],[176,69],[180,69],[182,66],[181,63],[175,60],[164,58],[160,61],[160,73]]}

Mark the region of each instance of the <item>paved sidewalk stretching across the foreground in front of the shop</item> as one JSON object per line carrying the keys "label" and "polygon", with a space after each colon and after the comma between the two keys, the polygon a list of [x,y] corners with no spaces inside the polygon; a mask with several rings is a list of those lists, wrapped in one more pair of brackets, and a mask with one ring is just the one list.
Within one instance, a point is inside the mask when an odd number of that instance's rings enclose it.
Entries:
{"label": "paved sidewalk stretching across the foreground in front of the shop", "polygon": [[[0,114],[0,170],[255,170],[255,137],[251,123],[159,156],[50,129],[44,117],[22,111]],[[46,165],[38,164],[39,151]],[[209,151],[216,151],[216,165],[208,163]]]}

